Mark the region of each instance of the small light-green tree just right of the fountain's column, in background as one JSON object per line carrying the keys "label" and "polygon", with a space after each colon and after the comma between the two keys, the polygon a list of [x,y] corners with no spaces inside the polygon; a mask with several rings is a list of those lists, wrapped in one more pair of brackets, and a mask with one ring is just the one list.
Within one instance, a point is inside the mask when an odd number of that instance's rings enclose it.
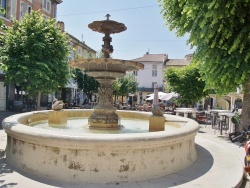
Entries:
{"label": "small light-green tree just right of the fountain's column, in background", "polygon": [[122,102],[123,97],[127,96],[129,93],[135,93],[138,87],[138,83],[136,82],[136,79],[132,75],[126,75],[124,77],[117,78],[113,84],[113,93],[116,96],[122,96]]}

